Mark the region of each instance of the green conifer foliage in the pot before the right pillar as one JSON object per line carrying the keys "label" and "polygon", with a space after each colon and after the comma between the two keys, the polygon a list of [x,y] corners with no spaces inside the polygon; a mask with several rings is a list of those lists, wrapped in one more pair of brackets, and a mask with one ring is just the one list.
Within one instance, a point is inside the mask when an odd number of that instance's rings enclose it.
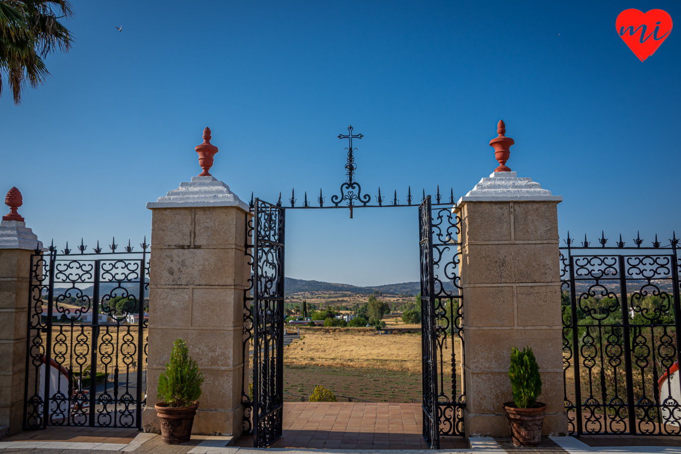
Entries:
{"label": "green conifer foliage in the pot before the right pillar", "polygon": [[533,408],[541,394],[541,376],[532,348],[511,348],[509,378],[516,408]]}

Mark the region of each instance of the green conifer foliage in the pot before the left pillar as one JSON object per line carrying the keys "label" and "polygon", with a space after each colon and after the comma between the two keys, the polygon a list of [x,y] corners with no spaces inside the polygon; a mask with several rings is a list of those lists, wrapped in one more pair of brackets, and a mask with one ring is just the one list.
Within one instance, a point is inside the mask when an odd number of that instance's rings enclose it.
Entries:
{"label": "green conifer foliage in the pot before the left pillar", "polygon": [[182,339],[173,342],[170,363],[165,365],[165,373],[159,376],[159,400],[165,401],[169,407],[191,406],[201,397],[203,383],[204,374],[199,372],[198,364],[189,356],[187,342]]}

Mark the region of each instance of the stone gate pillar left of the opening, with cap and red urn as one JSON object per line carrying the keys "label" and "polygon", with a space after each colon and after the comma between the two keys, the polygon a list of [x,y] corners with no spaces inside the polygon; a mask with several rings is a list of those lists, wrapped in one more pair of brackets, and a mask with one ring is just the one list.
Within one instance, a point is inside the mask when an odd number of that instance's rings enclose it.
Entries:
{"label": "stone gate pillar left of the opening, with cap and red urn", "polygon": [[[196,148],[210,147],[206,128],[204,144]],[[193,433],[239,436],[244,289],[251,276],[244,248],[249,206],[210,176],[212,157],[206,164],[202,155],[200,162],[204,176],[146,204],[153,215],[142,425],[144,432],[160,429],[154,409],[159,375],[170,361],[172,343],[181,338],[206,378]]]}

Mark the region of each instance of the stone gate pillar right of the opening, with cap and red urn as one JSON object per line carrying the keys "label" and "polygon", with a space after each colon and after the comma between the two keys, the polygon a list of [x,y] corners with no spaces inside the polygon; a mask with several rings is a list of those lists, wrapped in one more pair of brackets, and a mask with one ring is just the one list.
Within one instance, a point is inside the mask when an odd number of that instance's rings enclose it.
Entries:
{"label": "stone gate pillar right of the opening, with cap and red urn", "polygon": [[501,165],[456,208],[462,219],[466,436],[509,436],[503,403],[513,401],[512,346],[530,346],[537,357],[539,402],[548,405],[543,434],[565,434],[557,216],[563,197],[505,167],[513,140],[504,133],[500,121],[490,142]]}

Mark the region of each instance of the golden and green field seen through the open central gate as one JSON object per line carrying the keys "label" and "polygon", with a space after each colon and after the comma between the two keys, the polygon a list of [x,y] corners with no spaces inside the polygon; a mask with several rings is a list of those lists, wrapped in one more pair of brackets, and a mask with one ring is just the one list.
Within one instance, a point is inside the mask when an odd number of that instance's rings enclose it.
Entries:
{"label": "golden and green field seen through the open central gate", "polygon": [[[305,399],[316,385],[336,395],[373,402],[411,402],[421,398],[420,334],[378,334],[368,328],[301,329],[301,338],[284,348],[285,392]],[[442,372],[452,394],[452,339],[444,348]],[[460,342],[454,342],[460,359]],[[440,369],[440,364],[438,368]],[[457,394],[460,368],[457,367]],[[285,396],[286,400],[300,400]],[[338,400],[344,400],[338,398]]]}

